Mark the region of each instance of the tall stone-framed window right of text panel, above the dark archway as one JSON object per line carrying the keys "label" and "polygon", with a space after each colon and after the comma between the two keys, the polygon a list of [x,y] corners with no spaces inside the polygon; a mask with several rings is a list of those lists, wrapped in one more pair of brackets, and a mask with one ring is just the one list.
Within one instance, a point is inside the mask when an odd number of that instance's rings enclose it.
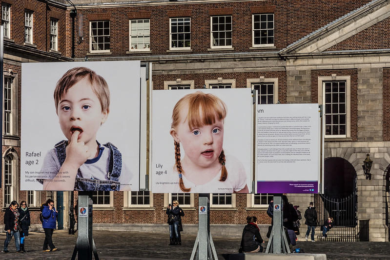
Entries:
{"label": "tall stone-framed window right of text panel, above the dark archway", "polygon": [[324,105],[325,137],[350,137],[350,77],[319,77],[318,87],[318,100]]}

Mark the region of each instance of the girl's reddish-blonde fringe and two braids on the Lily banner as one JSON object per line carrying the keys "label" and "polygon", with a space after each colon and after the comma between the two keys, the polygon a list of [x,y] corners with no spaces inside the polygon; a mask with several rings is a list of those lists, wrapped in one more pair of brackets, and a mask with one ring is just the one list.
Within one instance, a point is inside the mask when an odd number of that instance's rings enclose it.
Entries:
{"label": "girl's reddish-blonde fringe and two braids on the Lily banner", "polygon": [[[185,95],[179,100],[172,112],[172,125],[171,128],[176,128],[180,123],[180,112],[184,108],[188,107],[188,113],[184,121],[188,122],[189,128],[195,128],[202,125],[210,125],[215,123],[215,119],[225,120],[226,118],[226,104],[220,98],[213,94],[205,94],[201,91]],[[175,166],[179,173],[179,186],[183,192],[191,191],[191,188],[186,188],[183,183],[182,164],[180,162],[180,143],[174,140],[175,145]],[[225,181],[227,178],[227,170],[225,167],[225,153],[222,149],[221,154],[218,157],[219,162],[222,164],[220,181]]]}

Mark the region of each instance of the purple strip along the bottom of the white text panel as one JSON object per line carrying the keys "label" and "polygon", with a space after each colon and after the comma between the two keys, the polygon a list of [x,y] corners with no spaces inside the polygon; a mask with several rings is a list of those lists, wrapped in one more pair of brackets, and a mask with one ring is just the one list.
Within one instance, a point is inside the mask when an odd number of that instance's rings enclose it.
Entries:
{"label": "purple strip along the bottom of the white text panel", "polygon": [[318,193],[318,181],[257,181],[257,193]]}

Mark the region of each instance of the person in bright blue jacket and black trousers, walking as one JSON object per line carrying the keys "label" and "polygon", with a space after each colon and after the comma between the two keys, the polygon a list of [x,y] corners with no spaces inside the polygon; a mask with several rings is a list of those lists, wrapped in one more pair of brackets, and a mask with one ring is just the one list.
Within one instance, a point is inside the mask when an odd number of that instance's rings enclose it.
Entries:
{"label": "person in bright blue jacket and black trousers, walking", "polygon": [[[42,209],[42,227],[45,231],[45,240],[43,242],[43,252],[56,251],[57,248],[53,244],[52,236],[54,229],[57,227],[57,217],[58,211],[54,207],[54,201],[48,199],[46,203],[43,205]],[[48,246],[51,248],[49,250]]]}

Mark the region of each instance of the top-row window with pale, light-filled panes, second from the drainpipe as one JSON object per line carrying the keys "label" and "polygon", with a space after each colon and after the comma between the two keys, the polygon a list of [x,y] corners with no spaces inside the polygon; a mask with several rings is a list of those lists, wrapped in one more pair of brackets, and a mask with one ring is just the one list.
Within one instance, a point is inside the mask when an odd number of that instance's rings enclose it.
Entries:
{"label": "top-row window with pale, light-filled panes, second from the drainpipe", "polygon": [[130,51],[150,50],[150,20],[129,20]]}

